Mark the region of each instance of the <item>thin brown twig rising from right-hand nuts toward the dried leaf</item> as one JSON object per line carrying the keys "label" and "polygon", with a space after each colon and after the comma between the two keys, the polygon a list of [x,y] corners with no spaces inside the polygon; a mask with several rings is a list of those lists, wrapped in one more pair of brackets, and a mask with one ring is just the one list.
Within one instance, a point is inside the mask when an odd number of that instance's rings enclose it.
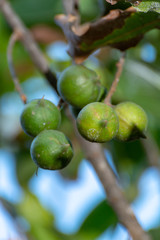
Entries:
{"label": "thin brown twig rising from right-hand nuts toward the dried leaf", "polygon": [[118,82],[119,82],[119,79],[120,79],[120,76],[121,76],[121,73],[122,73],[122,70],[123,70],[123,65],[124,65],[124,61],[125,61],[125,53],[122,53],[122,56],[120,58],[120,60],[118,61],[117,63],[117,72],[116,72],[116,75],[115,75],[115,79],[111,85],[111,88],[104,100],[104,103],[106,104],[111,104],[111,97],[113,95],[113,93],[116,91],[116,88],[117,88],[117,85],[118,85]]}

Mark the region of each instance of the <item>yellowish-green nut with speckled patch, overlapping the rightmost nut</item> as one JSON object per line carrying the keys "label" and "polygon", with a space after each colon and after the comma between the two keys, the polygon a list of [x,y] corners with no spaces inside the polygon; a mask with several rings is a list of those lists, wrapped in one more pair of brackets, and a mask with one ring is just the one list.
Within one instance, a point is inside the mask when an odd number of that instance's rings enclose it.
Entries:
{"label": "yellowish-green nut with speckled patch, overlapping the rightmost nut", "polygon": [[79,133],[90,142],[107,142],[118,131],[118,117],[114,109],[104,103],[86,105],[78,114]]}

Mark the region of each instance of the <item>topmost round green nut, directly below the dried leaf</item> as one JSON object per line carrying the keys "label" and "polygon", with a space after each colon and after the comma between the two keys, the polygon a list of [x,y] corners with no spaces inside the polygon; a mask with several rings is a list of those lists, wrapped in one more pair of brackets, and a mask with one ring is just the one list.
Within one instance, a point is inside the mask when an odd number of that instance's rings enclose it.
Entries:
{"label": "topmost round green nut, directly below the dried leaf", "polygon": [[64,101],[80,109],[88,103],[101,101],[106,95],[106,88],[97,74],[82,65],[66,68],[58,79],[57,88]]}

